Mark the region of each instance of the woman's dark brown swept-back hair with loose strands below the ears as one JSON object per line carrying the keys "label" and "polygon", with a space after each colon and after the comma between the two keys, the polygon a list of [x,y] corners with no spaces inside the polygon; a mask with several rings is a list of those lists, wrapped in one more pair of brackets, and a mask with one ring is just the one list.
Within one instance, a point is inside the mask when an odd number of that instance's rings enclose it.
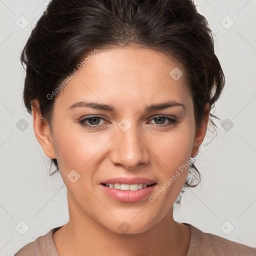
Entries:
{"label": "woman's dark brown swept-back hair with loose strands below the ears", "polygon": [[[93,49],[140,45],[177,59],[186,69],[196,127],[224,86],[207,20],[192,0],[51,0],[21,52],[26,64],[23,100],[31,114],[38,99],[41,116],[51,124],[54,98],[47,97]],[[214,125],[210,113],[210,122]],[[51,125],[50,125],[51,127]],[[51,159],[59,171],[56,159]],[[200,173],[193,163],[189,174]],[[50,175],[52,175],[51,173]],[[184,184],[194,187],[189,181]],[[180,204],[181,195],[176,202]]]}

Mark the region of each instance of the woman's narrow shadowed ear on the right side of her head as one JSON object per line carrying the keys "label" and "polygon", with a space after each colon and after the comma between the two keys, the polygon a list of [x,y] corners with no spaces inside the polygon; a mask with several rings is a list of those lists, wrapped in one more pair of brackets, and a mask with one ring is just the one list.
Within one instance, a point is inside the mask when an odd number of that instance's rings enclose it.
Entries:
{"label": "woman's narrow shadowed ear on the right side of her head", "polygon": [[199,150],[199,146],[201,145],[206,130],[207,130],[207,124],[209,120],[209,103],[205,104],[204,106],[204,117],[201,123],[199,124],[199,127],[197,128],[195,135],[194,135],[194,141],[193,141],[193,146],[192,146],[192,152],[191,152],[191,157],[194,157]]}

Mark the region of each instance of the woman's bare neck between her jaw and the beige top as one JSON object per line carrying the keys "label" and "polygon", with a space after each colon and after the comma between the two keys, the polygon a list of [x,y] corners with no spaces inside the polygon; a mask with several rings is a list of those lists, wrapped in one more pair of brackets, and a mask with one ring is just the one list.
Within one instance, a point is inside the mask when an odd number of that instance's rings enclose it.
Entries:
{"label": "woman's bare neck between her jaw and the beige top", "polygon": [[[141,233],[116,233],[85,214],[67,194],[69,221],[53,233],[62,255],[186,255],[190,229],[173,220],[173,207],[151,228]],[[86,254],[84,254],[86,252]]]}

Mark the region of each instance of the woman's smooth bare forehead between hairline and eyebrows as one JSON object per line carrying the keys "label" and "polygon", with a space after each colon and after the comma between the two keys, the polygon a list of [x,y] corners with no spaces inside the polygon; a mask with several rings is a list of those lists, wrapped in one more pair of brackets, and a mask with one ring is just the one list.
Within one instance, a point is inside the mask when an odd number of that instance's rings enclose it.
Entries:
{"label": "woman's smooth bare forehead between hairline and eyebrows", "polygon": [[[56,101],[148,101],[162,96],[182,100],[190,95],[184,67],[174,58],[147,48],[113,47],[86,54],[80,69],[60,90]],[[175,98],[176,97],[176,98]],[[58,99],[59,98],[59,99]]]}

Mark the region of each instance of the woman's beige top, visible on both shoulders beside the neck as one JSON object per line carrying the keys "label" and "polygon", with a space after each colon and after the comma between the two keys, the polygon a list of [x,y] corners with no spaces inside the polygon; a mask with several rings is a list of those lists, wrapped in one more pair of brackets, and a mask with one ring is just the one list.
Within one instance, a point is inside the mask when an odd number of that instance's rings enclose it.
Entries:
{"label": "woman's beige top, visible on both shoulders beside the neck", "polygon": [[[191,230],[191,239],[186,256],[256,256],[256,248],[230,241],[221,236],[205,233],[195,226],[183,223]],[[51,229],[21,249],[14,256],[59,256],[52,233],[61,226]]]}

